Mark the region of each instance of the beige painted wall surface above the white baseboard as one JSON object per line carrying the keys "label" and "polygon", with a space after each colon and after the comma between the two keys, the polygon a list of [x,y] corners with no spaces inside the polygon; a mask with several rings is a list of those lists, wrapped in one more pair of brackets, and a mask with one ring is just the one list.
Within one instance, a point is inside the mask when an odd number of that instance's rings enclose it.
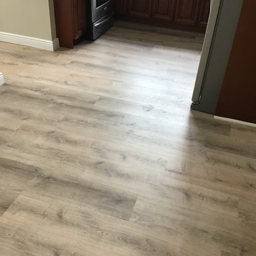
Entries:
{"label": "beige painted wall surface above the white baseboard", "polygon": [[0,0],[0,32],[53,40],[53,0]]}

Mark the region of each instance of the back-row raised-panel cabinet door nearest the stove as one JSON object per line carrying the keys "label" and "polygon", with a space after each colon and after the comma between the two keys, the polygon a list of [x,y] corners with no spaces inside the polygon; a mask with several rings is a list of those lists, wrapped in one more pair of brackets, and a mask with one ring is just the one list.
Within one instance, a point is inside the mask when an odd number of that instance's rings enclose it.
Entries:
{"label": "back-row raised-panel cabinet door nearest the stove", "polygon": [[129,15],[150,18],[152,0],[129,0]]}

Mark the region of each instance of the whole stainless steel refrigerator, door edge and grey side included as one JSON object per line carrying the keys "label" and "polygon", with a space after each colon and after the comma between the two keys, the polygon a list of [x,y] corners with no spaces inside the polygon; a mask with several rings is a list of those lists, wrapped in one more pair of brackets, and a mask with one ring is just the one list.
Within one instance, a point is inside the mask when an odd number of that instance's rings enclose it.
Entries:
{"label": "whole stainless steel refrigerator, door edge and grey side included", "polygon": [[191,109],[215,114],[243,2],[211,1]]}

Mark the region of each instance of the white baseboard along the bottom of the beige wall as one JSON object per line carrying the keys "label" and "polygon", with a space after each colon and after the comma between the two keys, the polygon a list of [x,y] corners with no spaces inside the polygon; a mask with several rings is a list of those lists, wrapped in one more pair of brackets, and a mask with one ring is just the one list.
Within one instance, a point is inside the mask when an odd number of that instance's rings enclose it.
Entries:
{"label": "white baseboard along the bottom of the beige wall", "polygon": [[6,32],[0,32],[0,41],[11,42],[16,45],[30,46],[48,51],[55,51],[59,48],[59,39],[53,41],[30,37],[25,35],[17,35]]}

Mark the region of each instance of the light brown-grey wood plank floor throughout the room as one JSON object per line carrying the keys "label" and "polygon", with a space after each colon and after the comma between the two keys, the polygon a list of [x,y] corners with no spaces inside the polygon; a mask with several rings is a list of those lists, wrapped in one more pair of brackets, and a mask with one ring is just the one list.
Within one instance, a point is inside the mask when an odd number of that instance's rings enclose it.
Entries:
{"label": "light brown-grey wood plank floor throughout the room", "polygon": [[121,26],[0,42],[0,254],[255,256],[256,129],[190,111],[203,37]]}

